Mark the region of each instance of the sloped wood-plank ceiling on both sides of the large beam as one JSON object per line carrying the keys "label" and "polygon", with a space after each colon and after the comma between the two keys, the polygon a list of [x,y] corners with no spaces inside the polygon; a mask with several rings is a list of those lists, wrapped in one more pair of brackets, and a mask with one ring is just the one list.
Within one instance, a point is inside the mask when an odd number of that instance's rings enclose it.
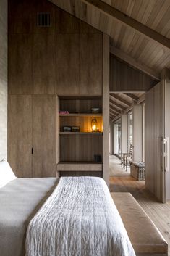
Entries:
{"label": "sloped wood-plank ceiling on both sides of the large beam", "polygon": [[[140,66],[143,65],[144,70],[146,67],[148,72],[153,70],[153,73],[157,74],[161,73],[163,67],[170,68],[169,47],[163,46],[160,42],[145,36],[143,33],[138,33],[134,28],[115,20],[108,13],[101,12],[98,7],[85,3],[84,0],[50,1],[94,28],[108,34],[111,38],[110,51],[117,57],[119,57],[119,53],[121,55],[124,53],[127,62],[133,59],[135,63],[139,63]],[[96,3],[98,0],[91,2]],[[103,0],[103,2],[109,8],[114,7],[124,15],[156,31],[165,39],[168,38],[167,44],[170,45],[169,0]]]}

